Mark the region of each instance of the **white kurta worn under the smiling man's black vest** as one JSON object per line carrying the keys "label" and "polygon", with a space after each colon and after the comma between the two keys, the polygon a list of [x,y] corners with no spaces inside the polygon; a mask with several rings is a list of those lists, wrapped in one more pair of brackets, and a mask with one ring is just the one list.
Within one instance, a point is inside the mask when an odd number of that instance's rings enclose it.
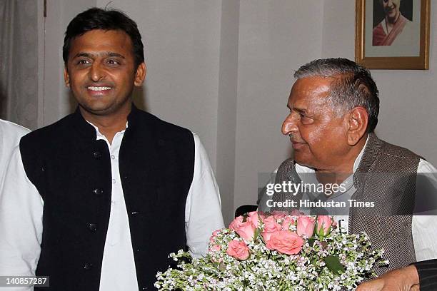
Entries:
{"label": "white kurta worn under the smiling man's black vest", "polygon": [[[106,141],[109,148],[112,175],[111,212],[100,290],[138,290],[129,219],[119,173],[119,150],[124,131],[116,133],[111,144],[97,128],[96,133],[96,138]],[[206,150],[199,136],[193,135],[194,176],[186,199],[185,230],[191,254],[200,256],[208,251],[211,233],[223,228],[223,218],[218,186]],[[41,252],[43,205],[41,195],[26,176],[19,148],[16,148],[0,193],[0,275],[35,274]],[[14,290],[29,290],[29,287]]]}

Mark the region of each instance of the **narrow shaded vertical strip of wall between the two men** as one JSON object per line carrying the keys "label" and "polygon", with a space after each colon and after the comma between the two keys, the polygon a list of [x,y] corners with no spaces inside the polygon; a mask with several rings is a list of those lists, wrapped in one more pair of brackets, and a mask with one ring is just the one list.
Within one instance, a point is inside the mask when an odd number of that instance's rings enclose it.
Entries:
{"label": "narrow shaded vertical strip of wall between the two men", "polygon": [[221,6],[220,69],[218,78],[216,178],[223,217],[233,218],[235,185],[236,103],[238,94],[239,1]]}

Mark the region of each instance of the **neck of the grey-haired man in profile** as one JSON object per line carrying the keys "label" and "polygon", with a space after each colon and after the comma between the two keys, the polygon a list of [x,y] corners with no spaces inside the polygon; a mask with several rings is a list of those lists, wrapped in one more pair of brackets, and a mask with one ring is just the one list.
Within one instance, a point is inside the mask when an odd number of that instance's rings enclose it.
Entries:
{"label": "neck of the grey-haired man in profile", "polygon": [[366,134],[355,146],[352,146],[337,165],[333,165],[332,168],[328,169],[315,169],[317,180],[323,184],[343,183],[346,178],[353,174],[353,165],[366,145],[367,137],[368,135]]}

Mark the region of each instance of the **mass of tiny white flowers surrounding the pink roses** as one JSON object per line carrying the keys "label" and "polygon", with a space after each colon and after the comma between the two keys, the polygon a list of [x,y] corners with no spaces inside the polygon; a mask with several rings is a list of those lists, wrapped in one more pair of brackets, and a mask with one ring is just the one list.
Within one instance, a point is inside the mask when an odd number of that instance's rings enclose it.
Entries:
{"label": "mass of tiny white flowers surrounding the pink roses", "polygon": [[[282,221],[277,220],[279,224]],[[351,286],[371,274],[376,263],[381,264],[383,251],[371,249],[365,233],[346,235],[332,230],[323,242],[316,236],[304,241],[297,255],[284,255],[266,247],[259,235],[263,223],[260,225],[256,238],[246,242],[250,252],[246,260],[227,255],[228,242],[241,238],[233,230],[223,229],[211,241],[219,250],[206,257],[193,259],[183,250],[170,254],[180,269],[159,272],[154,286],[158,290],[196,291],[342,290],[342,287],[353,290]],[[289,225],[288,231],[296,231],[296,224]],[[327,257],[337,258],[344,272],[332,272]]]}

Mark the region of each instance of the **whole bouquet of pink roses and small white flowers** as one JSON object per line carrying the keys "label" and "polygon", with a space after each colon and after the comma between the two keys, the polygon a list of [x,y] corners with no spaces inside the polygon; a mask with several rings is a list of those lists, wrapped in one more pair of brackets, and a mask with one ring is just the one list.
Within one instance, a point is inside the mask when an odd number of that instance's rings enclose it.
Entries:
{"label": "whole bouquet of pink roses and small white flowers", "polygon": [[365,233],[341,233],[331,216],[239,216],[214,231],[206,257],[171,253],[178,269],[158,272],[159,290],[355,290],[386,265]]}

